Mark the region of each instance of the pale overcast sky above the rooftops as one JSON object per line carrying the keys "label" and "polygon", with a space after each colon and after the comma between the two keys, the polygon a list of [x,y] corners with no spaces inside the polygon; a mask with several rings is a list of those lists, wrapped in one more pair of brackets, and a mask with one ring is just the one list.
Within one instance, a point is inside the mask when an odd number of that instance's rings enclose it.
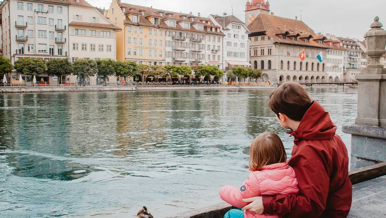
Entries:
{"label": "pale overcast sky above the rooftops", "polygon": [[[209,14],[222,15],[223,12],[245,20],[246,0],[121,0],[123,3],[153,6],[175,12],[207,17]],[[111,0],[88,0],[90,4],[108,9]],[[386,0],[270,0],[271,10],[276,16],[293,18],[302,14],[302,20],[315,32],[332,33],[338,37],[362,40],[370,29],[375,16],[386,24]],[[384,27],[385,28],[385,27]]]}

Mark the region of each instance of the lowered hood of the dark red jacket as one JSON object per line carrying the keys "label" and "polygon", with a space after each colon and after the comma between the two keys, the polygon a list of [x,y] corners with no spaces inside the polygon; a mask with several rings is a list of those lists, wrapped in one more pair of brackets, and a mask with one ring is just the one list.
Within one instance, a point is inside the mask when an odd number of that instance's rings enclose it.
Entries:
{"label": "lowered hood of the dark red jacket", "polygon": [[329,140],[336,132],[336,126],[331,121],[330,115],[316,101],[312,103],[299,127],[288,132],[295,137],[295,142],[300,140]]}

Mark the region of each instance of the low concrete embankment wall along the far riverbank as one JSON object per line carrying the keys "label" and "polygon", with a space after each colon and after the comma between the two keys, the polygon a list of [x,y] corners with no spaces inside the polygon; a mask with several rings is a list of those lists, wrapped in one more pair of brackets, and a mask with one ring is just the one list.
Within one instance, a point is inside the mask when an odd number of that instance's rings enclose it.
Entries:
{"label": "low concrete embankment wall along the far riverbank", "polygon": [[273,89],[274,86],[84,86],[84,87],[1,87],[2,93],[29,92],[92,92],[92,91],[162,91],[162,90],[226,90]]}

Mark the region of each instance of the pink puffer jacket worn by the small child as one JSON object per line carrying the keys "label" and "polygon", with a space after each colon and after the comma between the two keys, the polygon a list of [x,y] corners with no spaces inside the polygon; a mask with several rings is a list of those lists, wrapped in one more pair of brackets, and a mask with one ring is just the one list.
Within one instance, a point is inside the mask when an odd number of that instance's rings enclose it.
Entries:
{"label": "pink puffer jacket worn by the small child", "polygon": [[[224,186],[220,190],[222,200],[235,207],[244,207],[243,199],[262,195],[298,194],[298,180],[295,171],[287,163],[265,166],[261,171],[251,172],[240,189]],[[258,215],[249,210],[244,211],[244,218],[279,217],[277,215]]]}

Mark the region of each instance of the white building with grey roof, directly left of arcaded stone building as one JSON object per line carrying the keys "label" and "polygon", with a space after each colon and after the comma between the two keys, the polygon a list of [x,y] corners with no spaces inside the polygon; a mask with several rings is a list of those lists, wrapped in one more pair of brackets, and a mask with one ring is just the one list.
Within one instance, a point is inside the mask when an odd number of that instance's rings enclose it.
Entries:
{"label": "white building with grey roof, directly left of arcaded stone building", "polygon": [[225,37],[223,39],[223,69],[234,66],[249,67],[249,40],[250,33],[245,23],[235,16],[210,15],[212,22],[221,26]]}

